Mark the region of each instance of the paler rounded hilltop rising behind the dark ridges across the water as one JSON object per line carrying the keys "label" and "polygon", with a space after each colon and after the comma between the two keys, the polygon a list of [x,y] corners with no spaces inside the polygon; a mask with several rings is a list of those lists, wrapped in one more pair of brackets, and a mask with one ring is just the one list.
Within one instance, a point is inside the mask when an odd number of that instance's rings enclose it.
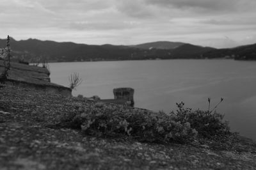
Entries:
{"label": "paler rounded hilltop rising behind the dark ridges across the water", "polygon": [[138,49],[175,49],[184,45],[182,42],[150,42],[141,43],[138,45],[131,45],[131,47],[136,47]]}

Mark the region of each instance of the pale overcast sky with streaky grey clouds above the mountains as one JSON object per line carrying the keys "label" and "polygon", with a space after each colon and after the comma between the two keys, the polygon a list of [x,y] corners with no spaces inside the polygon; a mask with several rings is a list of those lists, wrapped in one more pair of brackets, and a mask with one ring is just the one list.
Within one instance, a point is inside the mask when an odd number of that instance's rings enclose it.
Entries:
{"label": "pale overcast sky with streaky grey clouds above the mountains", "polygon": [[216,48],[256,43],[255,0],[0,0],[0,38]]}

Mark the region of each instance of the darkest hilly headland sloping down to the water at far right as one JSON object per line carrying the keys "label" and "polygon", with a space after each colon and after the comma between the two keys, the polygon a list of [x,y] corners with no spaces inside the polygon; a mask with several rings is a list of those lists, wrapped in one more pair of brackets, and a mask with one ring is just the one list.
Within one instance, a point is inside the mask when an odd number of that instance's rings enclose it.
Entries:
{"label": "darkest hilly headland sloping down to the water at far right", "polygon": [[204,53],[205,58],[234,58],[237,60],[256,60],[256,43],[231,49],[216,49]]}

